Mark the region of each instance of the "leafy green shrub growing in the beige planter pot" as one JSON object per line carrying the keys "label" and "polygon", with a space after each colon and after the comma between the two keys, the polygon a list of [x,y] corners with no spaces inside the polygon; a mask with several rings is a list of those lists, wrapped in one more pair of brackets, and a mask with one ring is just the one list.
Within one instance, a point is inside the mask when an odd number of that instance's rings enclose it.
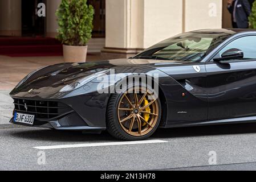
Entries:
{"label": "leafy green shrub growing in the beige planter pot", "polygon": [[92,36],[94,7],[87,5],[87,0],[62,0],[56,16],[56,38],[68,46],[86,46]]}

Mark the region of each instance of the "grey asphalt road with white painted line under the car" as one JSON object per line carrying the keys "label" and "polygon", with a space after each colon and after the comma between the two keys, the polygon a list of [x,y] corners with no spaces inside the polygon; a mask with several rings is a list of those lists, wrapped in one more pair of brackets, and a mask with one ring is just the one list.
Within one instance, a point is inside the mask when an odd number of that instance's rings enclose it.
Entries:
{"label": "grey asphalt road with white painted line under the car", "polygon": [[[121,141],[105,132],[0,125],[0,170],[256,170],[254,123],[160,129],[148,143],[113,142]],[[39,146],[57,147],[34,148]],[[215,166],[209,165],[210,151],[216,152]]]}

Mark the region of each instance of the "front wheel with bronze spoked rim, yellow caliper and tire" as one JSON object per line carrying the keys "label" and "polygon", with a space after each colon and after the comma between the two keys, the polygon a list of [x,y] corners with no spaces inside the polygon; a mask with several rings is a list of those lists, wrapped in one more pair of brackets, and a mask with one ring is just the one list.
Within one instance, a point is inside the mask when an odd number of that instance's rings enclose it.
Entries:
{"label": "front wheel with bronze spoked rim, yellow caliper and tire", "polygon": [[156,131],[160,119],[160,100],[148,89],[134,87],[109,99],[107,131],[117,139],[146,139]]}

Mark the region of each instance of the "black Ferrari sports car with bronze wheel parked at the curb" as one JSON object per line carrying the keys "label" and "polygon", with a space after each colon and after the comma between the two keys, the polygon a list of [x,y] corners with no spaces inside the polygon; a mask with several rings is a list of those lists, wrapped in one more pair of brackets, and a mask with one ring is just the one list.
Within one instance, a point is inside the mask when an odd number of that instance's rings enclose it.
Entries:
{"label": "black Ferrari sports car with bronze wheel parked at the curb", "polygon": [[44,67],[10,96],[11,123],[122,140],[158,127],[256,122],[256,30],[186,32],[130,59]]}

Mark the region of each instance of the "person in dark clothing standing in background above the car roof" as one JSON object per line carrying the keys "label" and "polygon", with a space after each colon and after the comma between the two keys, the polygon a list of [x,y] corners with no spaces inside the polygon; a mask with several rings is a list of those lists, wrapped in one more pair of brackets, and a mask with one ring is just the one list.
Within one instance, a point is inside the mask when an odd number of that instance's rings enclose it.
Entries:
{"label": "person in dark clothing standing in background above the car roof", "polygon": [[233,28],[248,28],[251,6],[248,0],[228,0],[227,9],[232,15]]}

